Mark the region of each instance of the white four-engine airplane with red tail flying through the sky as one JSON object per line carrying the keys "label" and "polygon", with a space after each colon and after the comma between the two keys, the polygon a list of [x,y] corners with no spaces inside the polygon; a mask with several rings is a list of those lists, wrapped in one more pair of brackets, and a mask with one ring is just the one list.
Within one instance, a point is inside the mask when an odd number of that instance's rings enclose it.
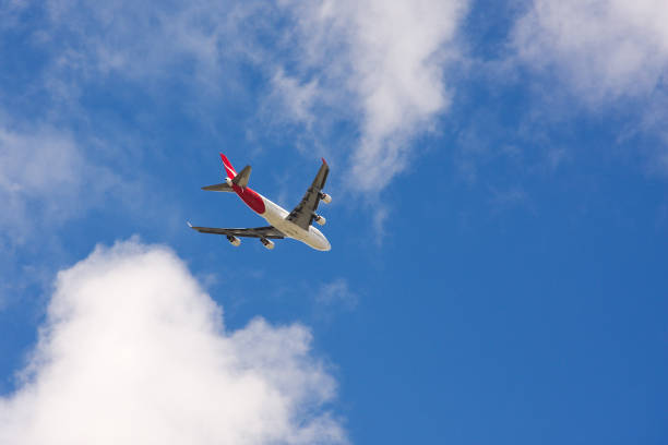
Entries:
{"label": "white four-engine airplane with red tail flying through the sky", "polygon": [[220,153],[220,159],[223,159],[223,166],[225,166],[225,172],[227,173],[225,182],[206,185],[202,190],[237,193],[246,205],[266,219],[270,226],[249,229],[224,229],[216,227],[193,227],[188,222],[190,228],[202,233],[224,234],[234,246],[241,244],[241,240],[238,237],[248,237],[259,238],[262,244],[270,250],[274,249],[272,240],[283,238],[293,238],[319,251],[332,249],[325,236],[311,225],[313,221],[321,226],[325,225],[325,217],[318,215],[315,211],[321,201],[325,204],[332,202],[332,196],[322,191],[330,173],[330,166],[324,158],[322,158],[322,166],[320,166],[313,183],[311,183],[301,202],[293,212],[286,211],[248,187],[248,179],[251,172],[250,166],[243,167],[237,173],[229,159],[223,153]]}

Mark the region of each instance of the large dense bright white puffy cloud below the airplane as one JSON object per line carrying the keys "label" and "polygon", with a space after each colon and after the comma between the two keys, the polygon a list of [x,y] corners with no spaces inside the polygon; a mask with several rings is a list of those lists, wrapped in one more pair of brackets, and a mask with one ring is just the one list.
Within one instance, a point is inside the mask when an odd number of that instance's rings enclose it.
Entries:
{"label": "large dense bright white puffy cloud below the airplane", "polygon": [[0,398],[0,443],[345,443],[310,340],[262,318],[226,330],[166,248],[98,246],[59,273],[23,381]]}

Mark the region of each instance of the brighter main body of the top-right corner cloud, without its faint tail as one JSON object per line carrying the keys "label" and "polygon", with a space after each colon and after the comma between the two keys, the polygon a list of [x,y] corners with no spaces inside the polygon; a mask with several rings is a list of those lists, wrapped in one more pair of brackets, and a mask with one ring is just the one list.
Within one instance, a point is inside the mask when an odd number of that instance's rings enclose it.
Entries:
{"label": "brighter main body of the top-right corner cloud, without its faint tail", "polygon": [[668,69],[664,0],[534,0],[515,24],[513,47],[553,71],[591,104],[652,94]]}

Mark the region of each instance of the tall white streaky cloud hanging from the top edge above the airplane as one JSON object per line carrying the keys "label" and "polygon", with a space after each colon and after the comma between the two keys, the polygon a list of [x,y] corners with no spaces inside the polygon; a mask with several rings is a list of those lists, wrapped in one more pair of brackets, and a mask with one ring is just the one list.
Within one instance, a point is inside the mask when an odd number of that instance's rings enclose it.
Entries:
{"label": "tall white streaky cloud hanging from the top edge above the airplane", "polygon": [[[351,163],[355,187],[385,187],[404,170],[410,139],[448,109],[446,68],[457,53],[456,31],[466,0],[283,1],[296,22],[299,53],[291,60],[310,101],[333,107],[359,124]],[[290,44],[294,44],[290,41]],[[278,71],[285,86],[283,68]],[[317,89],[314,89],[317,88]],[[299,96],[298,96],[299,97]]]}

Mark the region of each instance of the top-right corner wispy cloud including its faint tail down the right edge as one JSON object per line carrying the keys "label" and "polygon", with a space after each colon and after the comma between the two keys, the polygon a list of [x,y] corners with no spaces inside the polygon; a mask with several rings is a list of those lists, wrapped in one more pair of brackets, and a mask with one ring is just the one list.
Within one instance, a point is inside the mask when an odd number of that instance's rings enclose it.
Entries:
{"label": "top-right corner wispy cloud including its faint tail down the right edge", "polygon": [[665,175],[666,23],[668,3],[663,1],[533,0],[515,23],[511,47],[534,74],[532,82],[557,82],[569,110],[575,104],[588,113],[618,115],[624,120],[619,140],[654,135],[643,148],[647,171]]}

